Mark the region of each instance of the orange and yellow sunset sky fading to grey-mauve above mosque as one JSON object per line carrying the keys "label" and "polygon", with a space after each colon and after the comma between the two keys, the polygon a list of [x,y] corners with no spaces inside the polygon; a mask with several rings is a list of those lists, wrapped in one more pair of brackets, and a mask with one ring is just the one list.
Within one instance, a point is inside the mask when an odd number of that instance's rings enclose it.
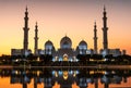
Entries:
{"label": "orange and yellow sunset sky fading to grey-mauve above mosque", "polygon": [[107,11],[108,45],[131,54],[131,0],[0,0],[0,54],[23,48],[24,12],[28,7],[28,46],[34,51],[34,29],[38,23],[38,48],[49,39],[58,49],[60,40],[72,39],[72,48],[84,39],[93,49],[94,22],[98,49],[103,48],[103,11]]}

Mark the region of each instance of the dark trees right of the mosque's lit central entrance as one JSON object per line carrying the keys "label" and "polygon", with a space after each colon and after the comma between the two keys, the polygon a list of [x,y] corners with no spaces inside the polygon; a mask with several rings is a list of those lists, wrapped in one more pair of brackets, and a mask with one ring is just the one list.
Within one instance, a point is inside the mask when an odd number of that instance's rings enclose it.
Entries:
{"label": "dark trees right of the mosque's lit central entrance", "polygon": [[114,56],[112,54],[108,54],[103,56],[102,54],[79,54],[76,56],[81,64],[83,65],[92,65],[92,64],[117,64],[117,65],[128,65],[131,64],[131,55],[123,54]]}

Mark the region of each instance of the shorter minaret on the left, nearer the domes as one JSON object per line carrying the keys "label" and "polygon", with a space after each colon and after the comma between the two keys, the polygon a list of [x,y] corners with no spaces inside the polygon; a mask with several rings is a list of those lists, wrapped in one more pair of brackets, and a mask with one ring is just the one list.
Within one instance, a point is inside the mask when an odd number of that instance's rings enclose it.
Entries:
{"label": "shorter minaret on the left, nearer the domes", "polygon": [[35,25],[35,48],[34,48],[34,54],[38,54],[37,50],[38,50],[38,26],[37,26],[37,22]]}

